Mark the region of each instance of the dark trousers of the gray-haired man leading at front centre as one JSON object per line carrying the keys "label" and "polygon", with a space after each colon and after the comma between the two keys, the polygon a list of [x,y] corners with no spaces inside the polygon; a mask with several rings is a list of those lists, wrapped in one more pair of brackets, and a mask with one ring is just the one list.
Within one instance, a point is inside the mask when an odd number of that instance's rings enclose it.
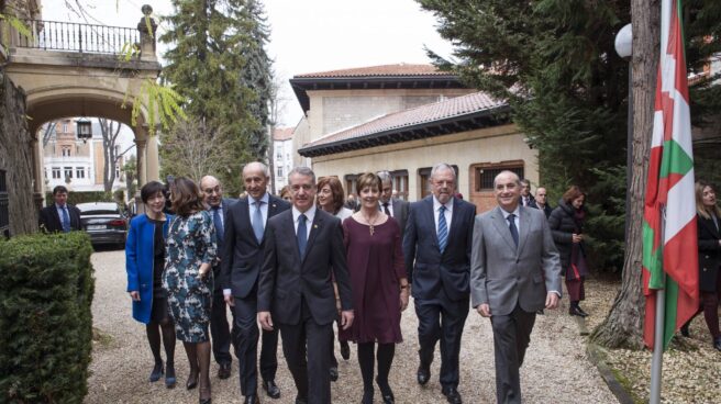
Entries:
{"label": "dark trousers of the gray-haired man leading at front centre", "polygon": [[331,352],[333,324],[318,324],[302,302],[299,324],[279,324],[282,351],[298,389],[298,399],[308,404],[331,403]]}

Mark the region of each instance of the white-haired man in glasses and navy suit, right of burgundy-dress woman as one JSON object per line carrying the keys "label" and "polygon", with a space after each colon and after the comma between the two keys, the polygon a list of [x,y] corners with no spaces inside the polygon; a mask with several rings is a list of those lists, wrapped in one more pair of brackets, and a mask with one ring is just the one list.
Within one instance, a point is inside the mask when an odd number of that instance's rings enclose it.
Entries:
{"label": "white-haired man in glasses and navy suit, right of burgundy-dress woman", "polygon": [[413,202],[408,214],[403,255],[412,279],[418,315],[418,382],[431,377],[435,343],[441,339],[441,388],[452,404],[458,393],[461,336],[468,316],[468,277],[475,205],[453,198],[456,173],[447,164],[431,171],[433,194]]}

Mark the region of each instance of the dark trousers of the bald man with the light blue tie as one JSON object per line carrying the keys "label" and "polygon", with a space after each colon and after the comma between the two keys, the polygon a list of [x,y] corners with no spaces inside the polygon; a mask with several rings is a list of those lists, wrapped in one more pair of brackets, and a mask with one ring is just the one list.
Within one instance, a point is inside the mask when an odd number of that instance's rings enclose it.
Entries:
{"label": "dark trousers of the bald man with the light blue tie", "polygon": [[[255,292],[235,298],[233,306],[233,343],[240,362],[241,394],[256,395],[258,384],[258,301]],[[278,370],[278,330],[263,330],[260,346],[260,377],[264,381],[276,379]]]}

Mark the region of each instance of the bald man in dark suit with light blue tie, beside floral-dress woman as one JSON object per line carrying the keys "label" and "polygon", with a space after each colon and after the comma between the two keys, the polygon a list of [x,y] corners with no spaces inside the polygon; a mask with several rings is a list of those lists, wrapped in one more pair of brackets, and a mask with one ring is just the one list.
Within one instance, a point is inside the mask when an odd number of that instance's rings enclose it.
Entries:
{"label": "bald man in dark suit with light blue tie, beside floral-dress woman", "polygon": [[[290,209],[290,204],[266,192],[269,172],[266,165],[251,162],[243,168],[246,198],[228,211],[222,248],[223,294],[233,312],[233,343],[240,362],[241,393],[245,403],[258,403],[257,350],[258,274],[263,265],[265,227],[268,218]],[[263,332],[260,377],[263,389],[280,397],[275,383],[278,369],[278,332]]]}

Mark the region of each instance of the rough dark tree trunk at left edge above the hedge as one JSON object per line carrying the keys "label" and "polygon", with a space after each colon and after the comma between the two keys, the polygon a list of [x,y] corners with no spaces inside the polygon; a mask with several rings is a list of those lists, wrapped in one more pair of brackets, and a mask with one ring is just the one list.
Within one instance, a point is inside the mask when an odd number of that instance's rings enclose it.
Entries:
{"label": "rough dark tree trunk at left edge above the hedge", "polygon": [[33,202],[33,136],[25,120],[25,94],[0,69],[0,170],[5,171],[10,234],[37,229]]}

